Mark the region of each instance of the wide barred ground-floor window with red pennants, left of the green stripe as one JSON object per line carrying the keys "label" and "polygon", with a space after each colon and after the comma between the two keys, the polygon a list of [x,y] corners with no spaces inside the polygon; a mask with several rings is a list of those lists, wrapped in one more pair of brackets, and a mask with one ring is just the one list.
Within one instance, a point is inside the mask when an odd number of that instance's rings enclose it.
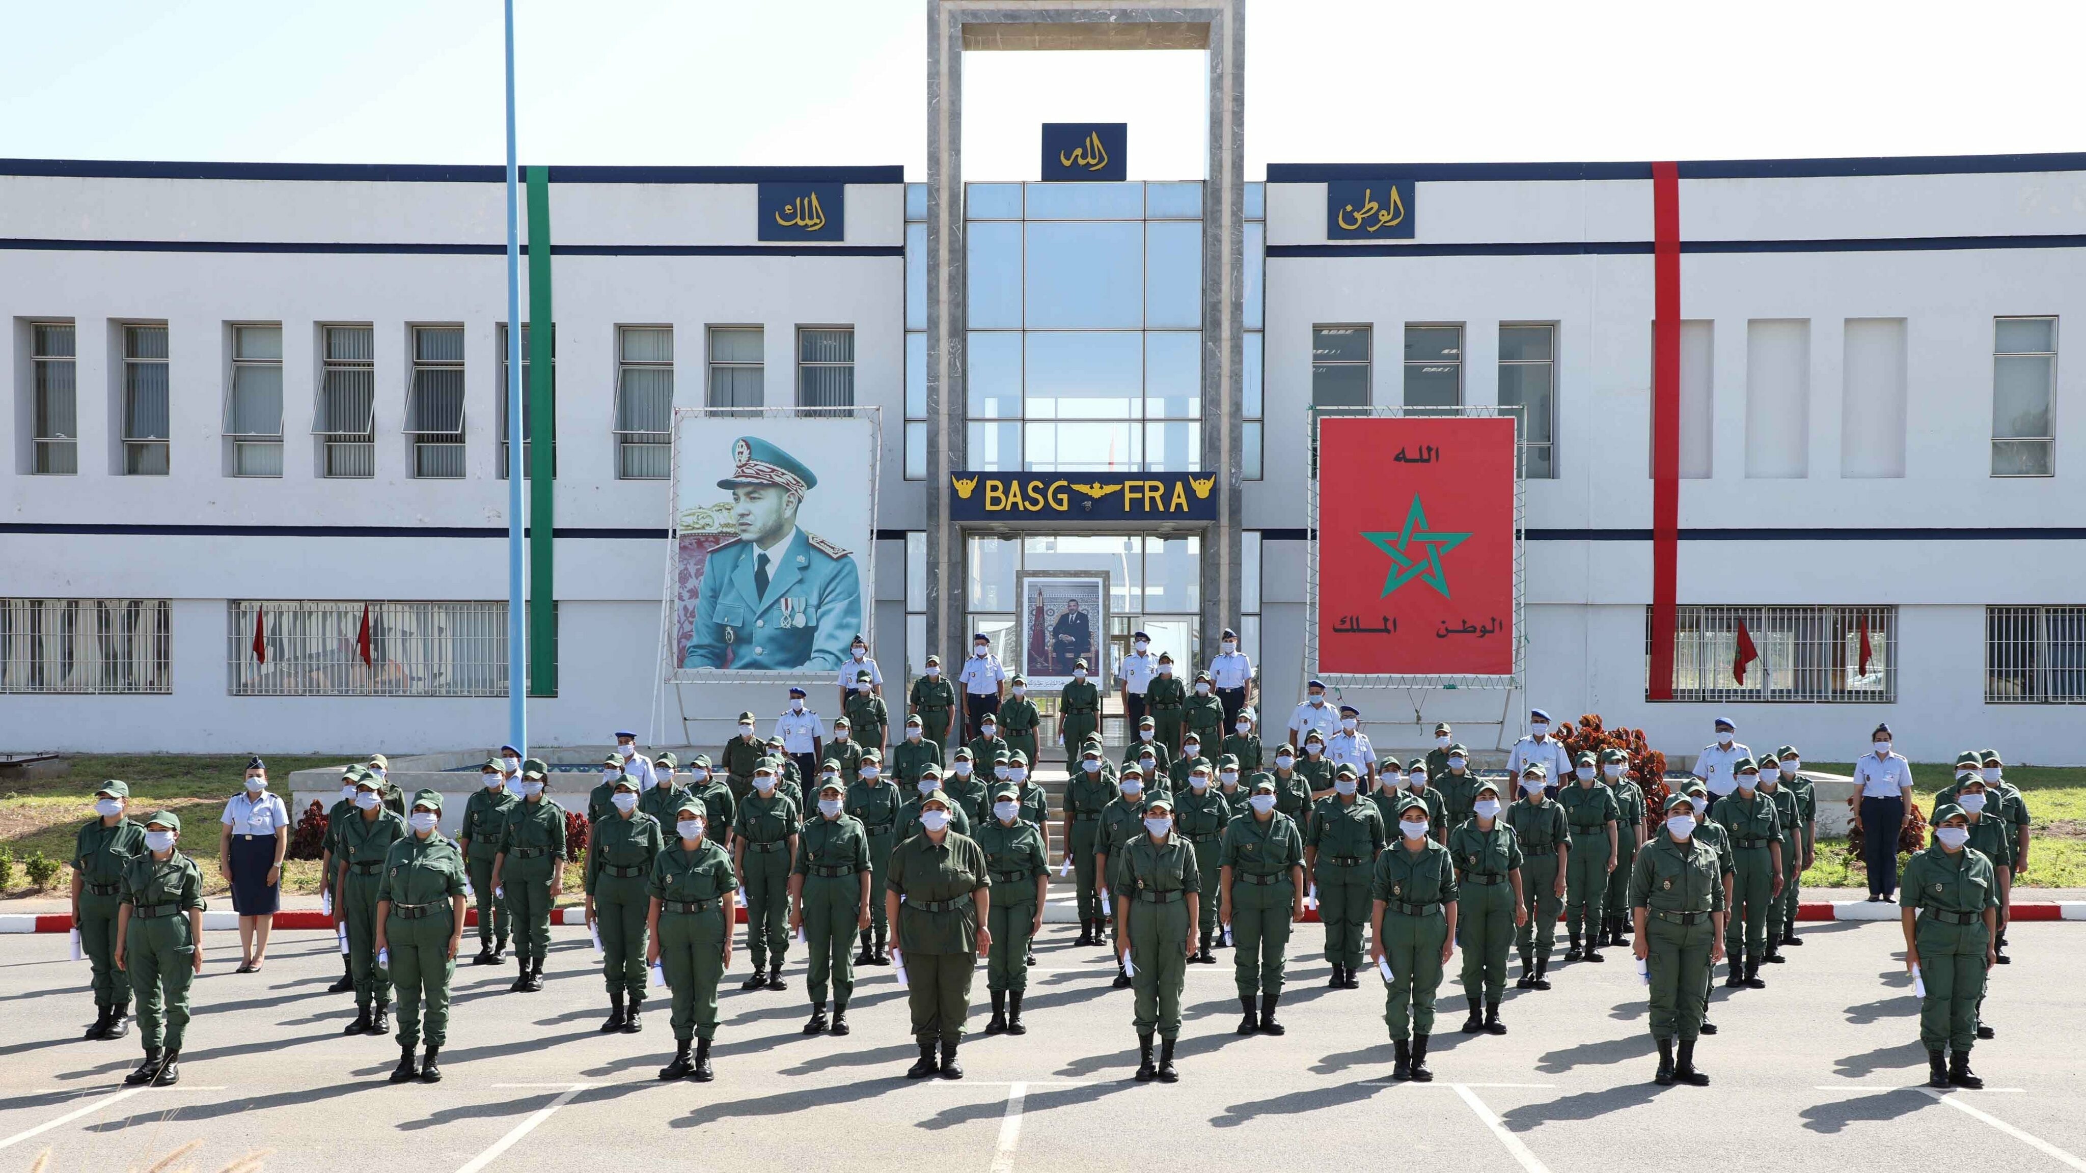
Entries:
{"label": "wide barred ground-floor window with red pennants, left of the green stripe", "polygon": [[507,603],[232,599],[234,697],[505,697]]}

